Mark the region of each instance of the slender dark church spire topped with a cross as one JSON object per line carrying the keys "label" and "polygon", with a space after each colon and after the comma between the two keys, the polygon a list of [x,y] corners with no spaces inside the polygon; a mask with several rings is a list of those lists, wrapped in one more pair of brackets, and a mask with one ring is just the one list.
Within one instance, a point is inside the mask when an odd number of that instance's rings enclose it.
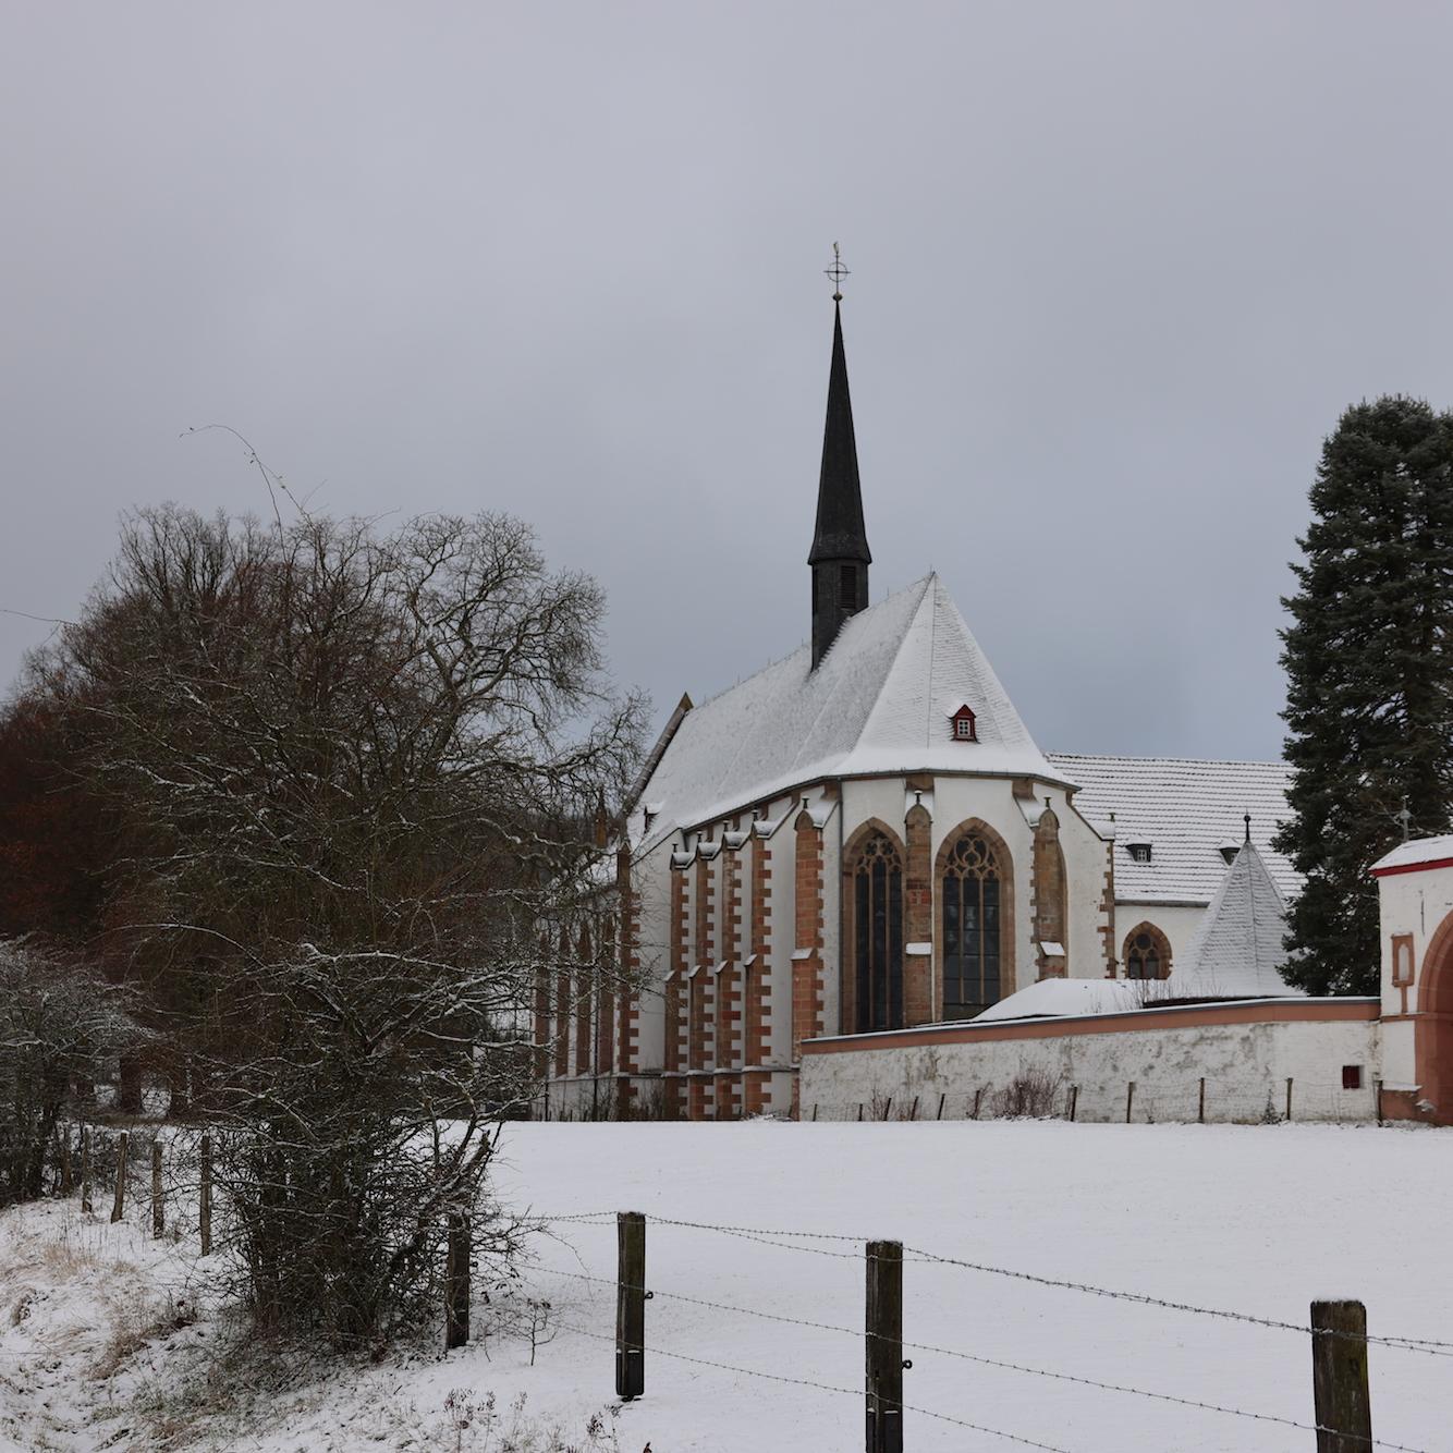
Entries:
{"label": "slender dark church spire topped with a cross", "polygon": [[827,385],[827,426],[822,433],[822,472],[818,477],[817,532],[808,564],[812,567],[812,668],[843,622],[867,604],[867,567],[872,552],[863,526],[863,490],[857,478],[857,440],[853,434],[853,401],[847,391],[847,353],[843,349],[843,267],[837,243],[828,276],[833,292],[833,365]]}

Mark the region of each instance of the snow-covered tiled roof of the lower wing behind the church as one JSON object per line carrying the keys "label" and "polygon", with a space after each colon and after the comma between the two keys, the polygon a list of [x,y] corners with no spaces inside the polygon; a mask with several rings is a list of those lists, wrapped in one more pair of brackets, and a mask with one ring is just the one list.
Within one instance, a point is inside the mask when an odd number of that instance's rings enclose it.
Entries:
{"label": "snow-covered tiled roof of the lower wing behind the church", "polygon": [[[1226,872],[1222,847],[1251,840],[1284,898],[1302,886],[1292,863],[1271,847],[1290,817],[1290,767],[1280,761],[1199,761],[1184,757],[1085,757],[1049,753],[1061,776],[1080,783],[1075,806],[1114,835],[1114,897],[1123,902],[1209,902]],[[1110,821],[1110,814],[1114,821]],[[1133,843],[1148,843],[1138,863]]]}

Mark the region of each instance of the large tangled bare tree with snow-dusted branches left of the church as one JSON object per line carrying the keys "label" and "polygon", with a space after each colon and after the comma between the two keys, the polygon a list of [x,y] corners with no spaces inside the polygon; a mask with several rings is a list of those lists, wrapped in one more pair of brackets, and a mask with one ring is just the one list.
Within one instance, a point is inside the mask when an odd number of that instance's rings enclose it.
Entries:
{"label": "large tangled bare tree with snow-dusted branches left of the church", "polygon": [[639,751],[526,526],[167,507],[36,667],[122,827],[110,924],[216,1126],[262,1327],[386,1335],[530,1096],[542,927]]}

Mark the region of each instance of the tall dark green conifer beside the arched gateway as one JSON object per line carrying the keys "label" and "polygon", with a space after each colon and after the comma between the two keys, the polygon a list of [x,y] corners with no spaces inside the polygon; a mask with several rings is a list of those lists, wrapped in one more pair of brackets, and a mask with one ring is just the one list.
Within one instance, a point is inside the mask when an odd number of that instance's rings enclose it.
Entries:
{"label": "tall dark green conifer beside the arched gateway", "polygon": [[1306,886],[1286,978],[1375,994],[1377,889],[1367,869],[1449,828],[1453,805],[1453,416],[1383,397],[1322,446],[1299,590],[1283,600],[1292,819],[1277,838]]}

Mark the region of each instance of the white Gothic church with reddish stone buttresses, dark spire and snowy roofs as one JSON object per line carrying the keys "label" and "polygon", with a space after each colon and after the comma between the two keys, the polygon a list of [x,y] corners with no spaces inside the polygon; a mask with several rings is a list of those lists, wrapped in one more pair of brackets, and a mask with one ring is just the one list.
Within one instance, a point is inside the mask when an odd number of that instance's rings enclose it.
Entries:
{"label": "white Gothic church with reddish stone buttresses, dark spire and snowy roofs", "polygon": [[641,988],[542,992],[552,1113],[604,1085],[636,1113],[805,1114],[804,1045],[965,1026],[1045,981],[1292,995],[1282,764],[1045,753],[936,574],[873,599],[840,294],[806,564],[809,642],[683,696],[631,793]]}

